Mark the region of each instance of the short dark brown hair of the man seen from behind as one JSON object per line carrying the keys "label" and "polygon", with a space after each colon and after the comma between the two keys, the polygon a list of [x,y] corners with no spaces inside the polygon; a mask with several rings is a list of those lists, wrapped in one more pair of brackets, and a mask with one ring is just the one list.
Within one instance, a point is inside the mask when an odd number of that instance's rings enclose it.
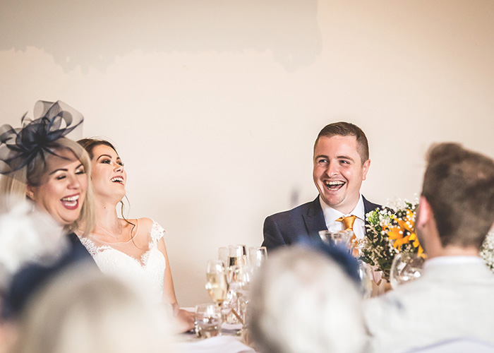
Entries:
{"label": "short dark brown hair of the man seen from behind", "polygon": [[457,143],[428,152],[422,196],[433,210],[442,246],[476,246],[494,222],[494,161]]}

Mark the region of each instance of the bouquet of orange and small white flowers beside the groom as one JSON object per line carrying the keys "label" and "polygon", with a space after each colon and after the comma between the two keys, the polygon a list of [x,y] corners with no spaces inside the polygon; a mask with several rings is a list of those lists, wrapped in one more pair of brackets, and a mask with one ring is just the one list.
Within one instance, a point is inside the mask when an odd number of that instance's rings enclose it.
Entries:
{"label": "bouquet of orange and small white flowers beside the groom", "polygon": [[382,278],[388,282],[394,255],[423,253],[414,228],[417,206],[417,202],[397,202],[366,215],[366,236],[359,240],[360,258],[382,271]]}

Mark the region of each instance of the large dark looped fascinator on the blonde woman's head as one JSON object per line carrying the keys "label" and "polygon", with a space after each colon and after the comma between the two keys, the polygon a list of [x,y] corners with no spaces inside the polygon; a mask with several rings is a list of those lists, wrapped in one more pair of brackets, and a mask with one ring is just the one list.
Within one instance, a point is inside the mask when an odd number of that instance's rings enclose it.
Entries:
{"label": "large dark looped fascinator on the blonde woman's head", "polygon": [[38,100],[34,119],[25,113],[21,128],[0,126],[0,174],[15,177],[17,170],[32,167],[37,157],[46,162],[46,156],[56,155],[56,140],[66,137],[83,123],[84,117],[64,102]]}

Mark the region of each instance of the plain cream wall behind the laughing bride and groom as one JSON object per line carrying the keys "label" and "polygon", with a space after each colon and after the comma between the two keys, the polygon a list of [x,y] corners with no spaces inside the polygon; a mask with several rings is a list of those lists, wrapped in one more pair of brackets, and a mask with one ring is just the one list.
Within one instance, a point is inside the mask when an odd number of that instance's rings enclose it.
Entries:
{"label": "plain cream wall behind the laughing bride and groom", "polygon": [[420,191],[430,143],[493,156],[492,18],[491,0],[4,0],[1,123],[63,100],[113,140],[130,216],[167,229],[190,306],[219,246],[258,245],[267,215],[315,198],[325,124],[366,131],[378,203]]}

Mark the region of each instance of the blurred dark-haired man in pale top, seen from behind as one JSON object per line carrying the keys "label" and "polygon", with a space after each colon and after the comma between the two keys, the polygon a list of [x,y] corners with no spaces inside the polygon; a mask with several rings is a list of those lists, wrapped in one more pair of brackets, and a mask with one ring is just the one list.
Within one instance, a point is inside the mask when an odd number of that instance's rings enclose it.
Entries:
{"label": "blurred dark-haired man in pale top, seen from behind", "polygon": [[494,161],[454,143],[433,146],[416,218],[423,274],[366,302],[373,352],[460,337],[494,344],[494,274],[479,256],[494,222]]}

